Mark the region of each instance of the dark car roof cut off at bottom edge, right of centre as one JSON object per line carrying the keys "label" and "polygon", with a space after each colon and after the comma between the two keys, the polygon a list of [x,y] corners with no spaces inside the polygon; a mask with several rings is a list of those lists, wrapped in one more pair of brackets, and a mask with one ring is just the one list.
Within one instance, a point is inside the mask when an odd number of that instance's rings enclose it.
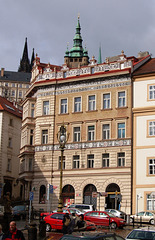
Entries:
{"label": "dark car roof cut off at bottom edge, right of centre", "polygon": [[124,240],[123,237],[115,233],[95,233],[85,235],[64,235],[60,240]]}

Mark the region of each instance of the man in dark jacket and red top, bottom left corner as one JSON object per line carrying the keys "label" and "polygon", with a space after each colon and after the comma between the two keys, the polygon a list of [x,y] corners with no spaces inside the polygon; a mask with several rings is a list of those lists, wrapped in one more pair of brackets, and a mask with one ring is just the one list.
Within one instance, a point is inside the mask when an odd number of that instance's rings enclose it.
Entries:
{"label": "man in dark jacket and red top, bottom left corner", "polygon": [[16,227],[16,222],[12,221],[10,222],[10,229],[8,233],[3,235],[3,240],[25,240],[25,237],[22,233],[22,231],[18,230]]}

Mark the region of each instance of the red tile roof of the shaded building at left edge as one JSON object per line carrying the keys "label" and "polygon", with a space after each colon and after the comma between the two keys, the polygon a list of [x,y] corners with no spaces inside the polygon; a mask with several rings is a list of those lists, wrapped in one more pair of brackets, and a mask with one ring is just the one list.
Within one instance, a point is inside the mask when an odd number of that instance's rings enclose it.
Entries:
{"label": "red tile roof of the shaded building at left edge", "polygon": [[22,111],[13,106],[11,102],[0,96],[0,111],[6,111],[17,117],[22,118]]}

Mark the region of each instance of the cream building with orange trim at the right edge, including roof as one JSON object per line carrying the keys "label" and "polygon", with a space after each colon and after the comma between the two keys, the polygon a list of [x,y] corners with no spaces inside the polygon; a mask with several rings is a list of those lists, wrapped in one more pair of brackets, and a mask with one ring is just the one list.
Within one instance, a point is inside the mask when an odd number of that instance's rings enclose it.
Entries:
{"label": "cream building with orange trim at the right edge, including roof", "polygon": [[133,212],[155,210],[155,59],[133,74]]}

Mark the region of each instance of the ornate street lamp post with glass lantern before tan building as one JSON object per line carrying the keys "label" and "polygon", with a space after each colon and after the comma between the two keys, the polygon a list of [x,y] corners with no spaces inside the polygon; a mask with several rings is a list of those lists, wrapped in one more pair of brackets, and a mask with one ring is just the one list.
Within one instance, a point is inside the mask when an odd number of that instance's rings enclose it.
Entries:
{"label": "ornate street lamp post with glass lantern before tan building", "polygon": [[60,192],[59,192],[59,203],[58,203],[58,210],[57,212],[62,212],[63,208],[63,199],[62,199],[62,173],[63,173],[63,152],[65,148],[65,144],[68,140],[68,133],[66,131],[66,127],[64,124],[60,127],[59,132],[57,133],[57,139],[60,144],[61,149],[61,164],[60,164]]}

